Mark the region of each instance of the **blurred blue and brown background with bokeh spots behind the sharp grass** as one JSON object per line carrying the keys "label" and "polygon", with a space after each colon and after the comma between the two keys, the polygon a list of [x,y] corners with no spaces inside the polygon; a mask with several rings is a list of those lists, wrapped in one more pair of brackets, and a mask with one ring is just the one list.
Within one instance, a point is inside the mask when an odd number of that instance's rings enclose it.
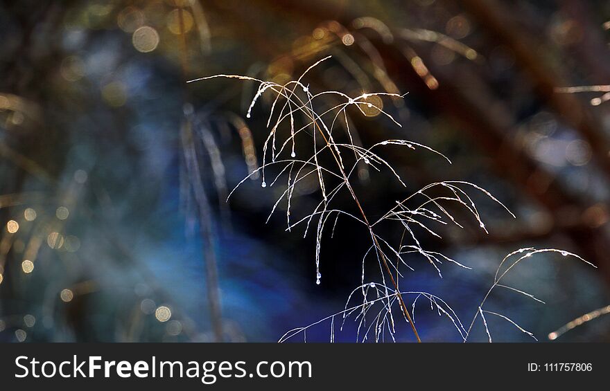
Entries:
{"label": "blurred blue and brown background with bokeh spots behind the sharp grass", "polygon": [[[473,270],[447,264],[440,279],[413,260],[401,287],[469,323],[510,251],[561,248],[598,266],[539,255],[510,282],[546,304],[489,299],[548,340],[610,304],[608,19],[609,2],[578,0],[1,1],[0,341],[275,341],[340,311],[366,232],[339,221],[315,284],[315,235],[286,232],[286,206],[265,224],[285,187],[246,181],[225,203],[261,164],[272,100],[246,118],[256,84],[186,83],[283,84],[326,55],[311,91],[408,93],[376,102],[402,127],[351,112],[358,143],[406,138],[453,161],[388,149],[408,189],[360,167],[372,215],[443,180],[476,183],[516,215],[473,194],[489,235],[460,216],[463,229],[422,242]],[[584,86],[597,87],[565,89]],[[302,210],[321,194],[315,180],[295,193]],[[609,341],[610,315],[593,318],[557,342]],[[424,341],[461,340],[425,304],[416,322]],[[487,322],[496,341],[531,340]],[[329,326],[307,340],[329,340]],[[487,340],[482,325],[470,339]]]}

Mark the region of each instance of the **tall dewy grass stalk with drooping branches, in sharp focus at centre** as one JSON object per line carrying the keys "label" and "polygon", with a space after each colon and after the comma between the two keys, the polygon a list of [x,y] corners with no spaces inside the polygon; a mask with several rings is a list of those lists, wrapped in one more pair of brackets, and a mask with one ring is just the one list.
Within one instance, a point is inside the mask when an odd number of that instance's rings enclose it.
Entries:
{"label": "tall dewy grass stalk with drooping branches, in sharp focus at centre", "polygon": [[[465,210],[467,210],[473,217],[475,217],[476,221],[478,221],[480,227],[485,230],[485,224],[483,224],[482,219],[478,210],[476,209],[476,205],[467,194],[466,191],[462,189],[464,186],[469,186],[482,192],[487,197],[490,197],[493,201],[500,203],[500,206],[507,209],[503,203],[498,201],[494,196],[492,196],[487,190],[480,188],[478,185],[474,185],[473,183],[463,182],[463,181],[444,181],[438,183],[431,183],[421,190],[411,194],[406,197],[402,201],[397,201],[396,206],[391,208],[388,212],[385,213],[380,219],[376,221],[369,221],[367,213],[365,212],[363,205],[360,203],[360,199],[354,190],[354,187],[351,182],[351,176],[356,171],[356,167],[358,165],[365,163],[365,166],[372,167],[376,171],[380,171],[381,168],[387,169],[391,172],[392,176],[406,187],[406,183],[401,179],[398,172],[394,170],[392,164],[382,158],[378,153],[373,152],[374,149],[378,149],[380,147],[387,147],[390,145],[394,146],[402,146],[407,147],[408,149],[427,149],[430,152],[438,154],[442,156],[442,158],[446,159],[448,163],[451,161],[442,154],[441,152],[436,151],[433,148],[427,147],[426,145],[421,145],[419,143],[412,142],[410,140],[403,139],[390,139],[390,140],[382,140],[381,142],[374,143],[371,147],[364,147],[362,145],[356,145],[354,143],[354,138],[351,135],[351,131],[355,131],[355,129],[350,129],[349,122],[347,119],[347,109],[349,107],[353,107],[356,109],[356,112],[365,115],[364,105],[368,108],[373,108],[378,113],[383,114],[386,118],[389,118],[395,125],[401,126],[401,124],[394,119],[391,113],[383,110],[383,104],[372,104],[371,102],[367,102],[367,99],[372,96],[377,97],[389,97],[389,98],[402,98],[403,95],[399,95],[398,93],[391,92],[380,92],[380,93],[362,93],[355,98],[351,98],[347,96],[347,94],[342,93],[340,91],[322,91],[320,93],[312,93],[309,85],[304,84],[304,76],[306,73],[311,71],[318,66],[320,63],[328,60],[330,57],[324,57],[321,60],[315,62],[312,66],[309,66],[308,69],[302,75],[299,76],[297,80],[292,80],[287,82],[286,84],[277,84],[275,82],[268,82],[264,80],[260,80],[258,78],[252,78],[250,76],[240,76],[240,75],[213,75],[206,78],[199,78],[195,80],[191,80],[191,82],[198,80],[210,80],[212,78],[229,78],[229,79],[237,79],[237,80],[248,80],[259,83],[258,89],[256,89],[256,93],[254,93],[254,98],[250,102],[250,105],[247,109],[247,117],[250,117],[252,113],[252,109],[257,101],[263,96],[265,93],[274,93],[275,98],[270,102],[270,111],[268,113],[268,118],[266,120],[268,127],[268,134],[263,142],[263,153],[262,153],[262,164],[260,167],[257,167],[256,170],[252,170],[250,174],[240,181],[236,187],[229,193],[229,197],[233,194],[233,192],[244,183],[244,181],[249,178],[261,174],[261,186],[263,188],[268,186],[267,179],[270,179],[269,185],[275,185],[277,183],[280,176],[286,175],[288,173],[288,182],[286,189],[281,195],[278,197],[277,201],[272,207],[270,211],[269,218],[271,215],[277,210],[279,204],[285,199],[287,203],[286,208],[286,221],[287,221],[287,230],[291,230],[295,226],[299,224],[306,224],[306,229],[304,235],[307,235],[309,227],[314,219],[317,219],[317,224],[315,225],[315,266],[316,266],[316,283],[320,284],[320,262],[321,262],[321,251],[322,251],[322,234],[324,233],[324,228],[328,224],[329,220],[331,220],[331,216],[336,215],[333,231],[336,227],[338,217],[340,215],[345,215],[350,217],[351,219],[355,219],[358,223],[363,224],[365,229],[369,233],[369,237],[371,239],[371,246],[369,250],[363,257],[363,276],[362,281],[364,283],[365,275],[365,261],[368,255],[374,254],[376,261],[381,270],[381,279],[383,284],[380,284],[380,287],[383,287],[384,292],[381,297],[383,298],[383,305],[385,306],[386,313],[378,313],[376,316],[376,325],[372,328],[372,325],[367,326],[365,331],[365,336],[372,329],[376,330],[376,334],[381,333],[385,330],[389,331],[392,335],[394,330],[394,319],[392,317],[392,304],[398,302],[399,307],[401,309],[401,313],[403,317],[406,319],[408,324],[410,325],[413,333],[415,334],[415,338],[418,341],[421,341],[419,338],[419,334],[415,327],[415,322],[412,320],[412,316],[410,311],[407,309],[406,302],[404,302],[401,291],[398,288],[397,280],[402,277],[401,271],[399,270],[399,266],[406,266],[409,269],[412,269],[407,263],[406,260],[403,259],[403,255],[406,253],[419,253],[422,255],[437,271],[439,276],[442,277],[441,270],[439,265],[443,264],[443,260],[454,263],[460,267],[468,268],[457,262],[452,260],[450,257],[446,257],[441,253],[433,252],[433,251],[425,251],[421,248],[421,244],[414,230],[412,230],[412,226],[417,226],[423,228],[425,232],[430,235],[440,237],[437,233],[434,232],[433,229],[429,228],[424,221],[420,221],[421,219],[425,219],[425,221],[437,221],[439,224],[448,224],[448,222],[452,222],[453,224],[457,224],[462,227],[458,221],[454,219],[451,215],[451,212],[443,206],[444,203],[453,202],[457,203],[459,206],[462,206]],[[339,100],[338,104],[331,104],[330,108],[326,108],[323,110],[318,110],[317,106],[319,102],[324,101],[326,98],[337,98]],[[284,102],[281,102],[284,100]],[[302,124],[297,124],[297,117],[302,116]],[[326,118],[331,116],[331,118]],[[274,120],[275,118],[275,120]],[[346,141],[340,140],[342,137],[341,134],[337,134],[333,130],[336,128],[338,122],[340,122],[340,118],[345,120],[345,136],[347,137]],[[284,127],[282,125],[287,124],[288,130],[287,135],[284,137]],[[306,158],[296,158],[295,153],[295,145],[297,144],[297,138],[303,138],[308,136],[310,141],[311,149],[313,151],[311,154],[306,156]],[[299,141],[300,143],[300,141]],[[290,148],[290,158],[285,158],[282,155],[285,153],[286,147],[291,145]],[[350,154],[354,154],[353,161],[349,163],[347,156],[342,154],[342,151],[349,151]],[[349,154],[348,154],[349,155]],[[325,157],[324,157],[325,156]],[[327,163],[322,163],[324,161],[333,161],[333,164],[329,165]],[[268,177],[266,171],[273,167],[274,165],[279,164],[281,170],[277,175],[272,177]],[[311,174],[315,174],[317,176],[317,183],[321,192],[321,200],[313,209],[313,212],[306,214],[304,217],[298,219],[296,222],[290,221],[290,208],[292,205],[292,199],[295,196],[295,188],[297,184],[306,179],[306,177]],[[336,182],[333,185],[333,181]],[[432,189],[437,190],[445,190],[448,191],[448,195],[428,195],[428,190]],[[358,212],[347,212],[343,206],[333,206],[331,204],[337,203],[338,194],[347,193],[349,197],[354,201],[356,206],[356,210]],[[413,197],[421,195],[424,197],[424,201],[417,206],[415,209],[410,209],[407,206],[407,203],[412,201]],[[438,212],[433,211],[432,209],[437,209]],[[512,215],[512,213],[511,213]],[[421,216],[421,219],[418,217]],[[514,215],[512,215],[514,217]],[[446,217],[446,219],[445,219]],[[268,221],[269,221],[268,218]],[[408,240],[410,240],[411,244],[403,245],[403,240],[401,239],[401,243],[399,246],[394,247],[394,245],[390,244],[390,241],[381,237],[376,233],[376,226],[381,224],[383,221],[393,222],[394,224],[398,221],[399,224],[404,228],[405,232],[408,233]],[[486,231],[487,232],[487,231]],[[332,234],[331,234],[332,235]],[[403,235],[404,239],[404,235]],[[408,251],[403,251],[403,249],[408,249]],[[373,251],[374,250],[374,251]],[[397,257],[397,264],[394,265],[392,262],[389,262],[388,255],[394,255]],[[394,278],[394,273],[396,278]],[[386,280],[389,282],[386,284]],[[388,287],[392,287],[389,289]],[[366,292],[364,289],[360,289],[363,291],[363,296],[366,302]],[[435,299],[431,299],[435,300]],[[368,310],[366,308],[363,309],[362,313],[360,313],[360,321],[364,322],[365,315]],[[439,313],[442,311],[439,309]],[[333,319],[333,318],[331,318]],[[390,325],[392,323],[392,325]],[[387,326],[387,327],[386,327]],[[391,327],[390,327],[391,326]],[[363,325],[364,327],[364,325]],[[360,329],[360,327],[359,327]],[[334,335],[334,334],[332,334]],[[464,334],[465,335],[465,334]],[[392,335],[392,338],[394,336]]]}

